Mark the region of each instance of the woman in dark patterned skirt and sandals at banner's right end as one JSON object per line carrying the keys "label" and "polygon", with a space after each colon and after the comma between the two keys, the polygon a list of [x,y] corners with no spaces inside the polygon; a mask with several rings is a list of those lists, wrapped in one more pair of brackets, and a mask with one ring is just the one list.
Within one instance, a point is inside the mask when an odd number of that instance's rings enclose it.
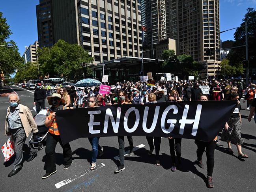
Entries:
{"label": "woman in dark patterned skirt and sandals at banner's right end", "polygon": [[[237,100],[239,99],[239,95],[235,92],[230,93],[228,100]],[[229,153],[233,153],[231,142],[233,142],[238,151],[238,157],[239,158],[248,158],[248,155],[244,155],[242,153],[242,146],[243,145],[243,139],[241,138],[241,106],[240,103],[237,104],[234,112],[231,114],[230,118],[228,119],[228,122],[225,125],[225,128],[222,131],[222,140],[226,141],[228,144],[227,151]]]}

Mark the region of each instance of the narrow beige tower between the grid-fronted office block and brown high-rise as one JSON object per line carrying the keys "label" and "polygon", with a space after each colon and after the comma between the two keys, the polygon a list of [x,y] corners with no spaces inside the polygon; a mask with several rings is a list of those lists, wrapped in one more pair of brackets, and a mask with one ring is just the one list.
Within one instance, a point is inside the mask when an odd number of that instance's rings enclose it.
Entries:
{"label": "narrow beige tower between the grid-fronted office block and brown high-rise", "polygon": [[[146,42],[153,49],[160,41],[166,39],[166,7],[165,0],[146,1]],[[152,55],[154,58],[155,56]]]}

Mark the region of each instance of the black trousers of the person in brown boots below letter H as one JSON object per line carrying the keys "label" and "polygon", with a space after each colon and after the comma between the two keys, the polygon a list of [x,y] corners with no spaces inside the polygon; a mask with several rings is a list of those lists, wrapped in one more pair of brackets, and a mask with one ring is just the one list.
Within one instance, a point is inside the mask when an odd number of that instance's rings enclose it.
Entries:
{"label": "black trousers of the person in brown boots below letter H", "polygon": [[206,164],[207,164],[207,175],[212,176],[213,175],[213,168],[214,168],[214,150],[216,147],[217,141],[213,142],[204,142],[204,141],[198,141],[196,140],[197,144],[197,160],[202,160],[202,156],[204,153],[204,149],[206,148]]}

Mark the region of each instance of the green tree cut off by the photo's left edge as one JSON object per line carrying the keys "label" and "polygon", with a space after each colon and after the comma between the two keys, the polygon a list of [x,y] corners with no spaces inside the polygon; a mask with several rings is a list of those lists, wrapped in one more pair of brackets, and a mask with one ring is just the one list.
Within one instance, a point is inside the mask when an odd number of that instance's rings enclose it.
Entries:
{"label": "green tree cut off by the photo's left edge", "polygon": [[4,71],[5,74],[14,73],[15,69],[23,63],[23,58],[18,52],[19,49],[16,43],[12,40],[6,41],[11,34],[6,18],[4,18],[3,13],[0,12],[0,45],[12,46],[0,46],[0,71]]}

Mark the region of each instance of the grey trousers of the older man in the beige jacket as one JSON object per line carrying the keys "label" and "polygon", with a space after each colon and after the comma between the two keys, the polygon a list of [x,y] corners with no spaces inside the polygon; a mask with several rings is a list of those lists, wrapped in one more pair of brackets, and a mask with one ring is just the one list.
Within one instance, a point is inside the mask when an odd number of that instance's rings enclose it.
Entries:
{"label": "grey trousers of the older man in the beige jacket", "polygon": [[[18,129],[9,129],[12,138],[13,138],[13,142],[14,142],[14,149],[15,149],[15,160],[14,160],[14,164],[13,164],[13,169],[18,169],[21,168],[22,165],[22,159],[23,159],[23,151],[22,151],[22,147],[26,141],[26,133],[23,129],[23,127],[18,128]],[[34,153],[36,153],[35,149],[30,148],[30,152],[29,155],[33,155]]]}

